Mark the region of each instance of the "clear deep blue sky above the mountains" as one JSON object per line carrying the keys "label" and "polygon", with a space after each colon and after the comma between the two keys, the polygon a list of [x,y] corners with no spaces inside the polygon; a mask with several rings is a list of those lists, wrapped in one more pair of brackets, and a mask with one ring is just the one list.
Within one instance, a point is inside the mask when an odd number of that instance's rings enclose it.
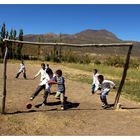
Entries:
{"label": "clear deep blue sky above the mountains", "polygon": [[0,5],[0,26],[24,34],[68,33],[106,29],[123,40],[140,41],[140,4]]}

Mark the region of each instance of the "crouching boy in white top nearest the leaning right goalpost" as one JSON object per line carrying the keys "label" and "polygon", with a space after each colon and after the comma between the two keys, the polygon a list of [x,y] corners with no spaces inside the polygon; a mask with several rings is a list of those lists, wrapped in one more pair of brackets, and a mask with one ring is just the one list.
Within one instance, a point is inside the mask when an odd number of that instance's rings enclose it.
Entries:
{"label": "crouching boy in white top nearest the leaning right goalpost", "polygon": [[96,92],[100,94],[100,99],[101,102],[103,103],[102,107],[106,109],[107,107],[109,107],[106,96],[110,92],[111,88],[115,89],[115,84],[112,81],[104,80],[103,75],[98,76],[98,81],[99,81],[99,88],[98,91]]}

